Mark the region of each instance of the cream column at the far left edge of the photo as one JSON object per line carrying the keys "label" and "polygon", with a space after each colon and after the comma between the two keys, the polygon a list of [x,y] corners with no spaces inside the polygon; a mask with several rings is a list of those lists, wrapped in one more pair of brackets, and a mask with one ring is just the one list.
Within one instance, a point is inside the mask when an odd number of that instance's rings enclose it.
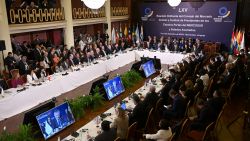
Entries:
{"label": "cream column at the far left edge of the photo", "polygon": [[[6,50],[4,51],[4,57],[6,57],[8,52],[12,52],[12,47],[11,47],[9,23],[8,23],[5,0],[0,1],[0,40],[5,41]],[[3,60],[2,60],[3,56],[2,56],[2,53],[0,54],[1,54],[0,66],[2,70],[3,69]]]}

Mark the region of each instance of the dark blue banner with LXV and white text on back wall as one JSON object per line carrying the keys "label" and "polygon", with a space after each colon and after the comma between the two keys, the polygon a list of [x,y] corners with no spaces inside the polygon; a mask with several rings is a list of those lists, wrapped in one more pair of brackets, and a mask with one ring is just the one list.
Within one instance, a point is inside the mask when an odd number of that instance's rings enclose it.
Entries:
{"label": "dark blue banner with LXV and white text on back wall", "polygon": [[236,1],[182,2],[173,8],[167,2],[141,5],[144,35],[199,38],[229,47],[237,11]]}

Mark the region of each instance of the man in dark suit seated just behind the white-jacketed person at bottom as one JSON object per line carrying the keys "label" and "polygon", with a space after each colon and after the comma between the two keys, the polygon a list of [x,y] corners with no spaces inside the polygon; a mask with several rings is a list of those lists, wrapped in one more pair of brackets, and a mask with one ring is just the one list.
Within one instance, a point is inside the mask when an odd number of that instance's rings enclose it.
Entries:
{"label": "man in dark suit seated just behind the white-jacketed person at bottom", "polygon": [[185,99],[174,90],[170,90],[169,97],[173,99],[173,106],[167,106],[167,109],[163,111],[163,117],[166,119],[182,118],[186,110]]}

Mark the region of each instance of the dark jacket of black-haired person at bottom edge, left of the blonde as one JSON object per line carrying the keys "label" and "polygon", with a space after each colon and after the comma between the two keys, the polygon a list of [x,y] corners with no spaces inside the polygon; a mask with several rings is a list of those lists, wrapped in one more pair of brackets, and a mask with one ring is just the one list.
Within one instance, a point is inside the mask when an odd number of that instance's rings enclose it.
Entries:
{"label": "dark jacket of black-haired person at bottom edge, left of the blonde", "polygon": [[101,134],[95,137],[95,141],[114,141],[115,139],[116,131],[114,129],[103,131]]}

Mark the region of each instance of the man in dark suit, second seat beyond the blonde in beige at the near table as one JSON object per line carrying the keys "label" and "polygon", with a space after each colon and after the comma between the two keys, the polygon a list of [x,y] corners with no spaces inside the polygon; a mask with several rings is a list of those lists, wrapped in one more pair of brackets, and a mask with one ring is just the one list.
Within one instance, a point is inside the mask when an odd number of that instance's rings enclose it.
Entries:
{"label": "man in dark suit, second seat beyond the blonde in beige at the near table", "polygon": [[146,106],[146,111],[149,112],[151,108],[154,108],[156,102],[158,101],[159,96],[155,92],[155,86],[151,85],[149,88],[149,92],[147,93],[143,103]]}

